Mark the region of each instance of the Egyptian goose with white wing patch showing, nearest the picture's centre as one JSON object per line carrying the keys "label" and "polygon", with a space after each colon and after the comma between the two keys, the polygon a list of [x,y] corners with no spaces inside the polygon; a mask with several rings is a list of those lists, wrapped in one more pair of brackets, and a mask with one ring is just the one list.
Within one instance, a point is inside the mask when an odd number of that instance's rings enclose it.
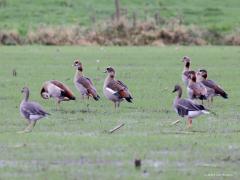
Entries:
{"label": "Egyptian goose with white wing patch showing, nearest the picture's centre", "polygon": [[119,107],[120,102],[124,99],[131,103],[132,95],[122,81],[115,80],[115,70],[108,67],[105,73],[107,73],[107,77],[104,81],[103,93],[109,100],[113,101],[114,107]]}

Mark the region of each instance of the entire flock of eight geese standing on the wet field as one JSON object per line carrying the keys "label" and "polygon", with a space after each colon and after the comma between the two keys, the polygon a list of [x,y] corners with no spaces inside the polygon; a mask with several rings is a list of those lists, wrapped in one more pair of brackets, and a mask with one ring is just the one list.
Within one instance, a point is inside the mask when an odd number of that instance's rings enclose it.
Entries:
{"label": "entire flock of eight geese standing on the wet field", "polygon": [[[222,96],[223,98],[227,98],[228,96],[218,84],[207,78],[207,71],[205,69],[200,69],[197,72],[192,71],[190,69],[191,60],[187,56],[184,56],[182,61],[184,62],[182,80],[187,87],[188,98],[182,99],[182,88],[180,85],[175,85],[173,92],[177,92],[177,96],[174,100],[173,107],[181,117],[187,117],[188,128],[190,128],[193,118],[201,114],[209,113],[203,106],[203,100],[213,102],[214,96]],[[98,101],[100,96],[92,80],[83,75],[82,63],[79,60],[75,60],[73,67],[76,68],[74,85],[80,92],[82,99],[89,99],[92,97],[94,100]],[[123,100],[131,103],[133,100],[131,92],[122,81],[115,79],[114,68],[107,67],[105,73],[107,73],[107,77],[104,81],[103,93],[106,98],[114,103],[115,108],[118,108]],[[30,92],[28,87],[24,87],[22,93],[24,94],[24,98],[20,104],[20,113],[27,119],[28,126],[23,131],[20,131],[20,133],[27,133],[32,131],[39,119],[50,114],[38,103],[29,101]],[[57,108],[59,108],[62,101],[76,99],[70,88],[57,80],[44,82],[40,94],[43,99],[55,99]],[[202,100],[202,104],[199,104],[196,99]]]}

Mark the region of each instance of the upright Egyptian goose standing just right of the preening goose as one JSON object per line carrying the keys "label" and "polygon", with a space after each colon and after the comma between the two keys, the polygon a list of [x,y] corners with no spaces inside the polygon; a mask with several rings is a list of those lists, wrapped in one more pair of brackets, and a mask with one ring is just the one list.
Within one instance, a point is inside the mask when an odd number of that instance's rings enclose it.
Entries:
{"label": "upright Egyptian goose standing just right of the preening goose", "polygon": [[97,90],[93,85],[90,78],[83,75],[83,66],[79,60],[74,61],[73,66],[76,67],[76,74],[74,76],[74,84],[77,90],[81,93],[82,98],[93,97],[94,100],[98,101],[100,96],[97,94]]}

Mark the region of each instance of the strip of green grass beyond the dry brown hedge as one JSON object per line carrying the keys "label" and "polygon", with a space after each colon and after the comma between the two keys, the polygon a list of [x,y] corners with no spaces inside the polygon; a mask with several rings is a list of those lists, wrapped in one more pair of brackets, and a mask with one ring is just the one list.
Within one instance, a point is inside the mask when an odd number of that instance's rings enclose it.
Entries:
{"label": "strip of green grass beyond the dry brown hedge", "polygon": [[[181,16],[187,25],[220,32],[240,25],[239,0],[121,0],[121,7],[128,9],[130,19],[133,12],[138,19],[153,19],[158,12],[166,19]],[[114,11],[113,0],[0,0],[0,28],[26,34],[29,28],[44,24],[89,27],[93,24],[91,17],[95,16],[99,22],[110,19]]]}

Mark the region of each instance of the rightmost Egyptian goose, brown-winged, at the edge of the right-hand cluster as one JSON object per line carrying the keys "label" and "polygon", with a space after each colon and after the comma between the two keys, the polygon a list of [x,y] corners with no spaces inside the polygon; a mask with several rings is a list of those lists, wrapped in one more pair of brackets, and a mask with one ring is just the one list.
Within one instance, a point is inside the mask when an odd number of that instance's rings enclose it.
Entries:
{"label": "rightmost Egyptian goose, brown-winged, at the edge of the right-hand cluster", "polygon": [[214,81],[207,79],[207,71],[205,69],[200,69],[198,72],[198,81],[201,82],[207,89],[207,96],[213,102],[214,96],[222,96],[227,99],[227,93]]}

